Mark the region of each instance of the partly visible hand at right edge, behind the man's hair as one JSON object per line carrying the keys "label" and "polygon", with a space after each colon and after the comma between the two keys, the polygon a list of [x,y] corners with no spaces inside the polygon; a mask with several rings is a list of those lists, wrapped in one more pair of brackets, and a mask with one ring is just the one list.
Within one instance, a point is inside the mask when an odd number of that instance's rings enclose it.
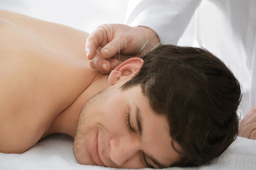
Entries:
{"label": "partly visible hand at right edge, behind the man's hair", "polygon": [[238,136],[256,139],[256,106],[251,107],[242,119]]}

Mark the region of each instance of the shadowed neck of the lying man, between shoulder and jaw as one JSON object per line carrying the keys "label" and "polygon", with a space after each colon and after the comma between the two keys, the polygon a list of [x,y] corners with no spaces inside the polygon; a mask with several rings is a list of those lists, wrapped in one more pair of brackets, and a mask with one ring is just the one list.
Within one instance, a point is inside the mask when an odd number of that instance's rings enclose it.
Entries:
{"label": "shadowed neck of the lying man, between shoulder and jaw", "polygon": [[89,85],[89,87],[86,88],[69,107],[56,115],[47,135],[53,133],[64,133],[74,137],[80,110],[82,109],[83,104],[92,96],[110,86],[108,83],[108,77],[109,75],[102,75],[98,73],[91,85]]}

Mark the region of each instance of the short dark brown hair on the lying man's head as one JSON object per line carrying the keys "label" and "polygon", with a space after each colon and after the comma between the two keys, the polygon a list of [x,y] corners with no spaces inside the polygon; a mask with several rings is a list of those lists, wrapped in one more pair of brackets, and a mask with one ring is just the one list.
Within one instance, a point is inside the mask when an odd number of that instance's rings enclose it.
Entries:
{"label": "short dark brown hair on the lying man's head", "polygon": [[183,158],[172,166],[196,166],[218,157],[238,134],[241,89],[227,66],[201,48],[161,45],[144,57],[125,90],[140,85],[150,107],[168,119],[172,145]]}

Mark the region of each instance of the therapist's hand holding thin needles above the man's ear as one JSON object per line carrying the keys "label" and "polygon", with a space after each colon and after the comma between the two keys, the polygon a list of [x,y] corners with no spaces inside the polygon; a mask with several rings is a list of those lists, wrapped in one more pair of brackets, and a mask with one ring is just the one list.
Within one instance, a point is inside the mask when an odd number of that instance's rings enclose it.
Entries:
{"label": "therapist's hand holding thin needles above the man's ear", "polygon": [[[86,56],[90,60],[91,68],[101,71],[102,74],[108,74],[113,69],[110,64],[114,68],[119,65],[119,48],[122,62],[125,60],[125,53],[126,59],[135,57],[146,41],[148,41],[146,48],[137,57],[141,57],[160,42],[157,34],[144,26],[131,27],[123,24],[105,24],[98,26],[88,36],[85,45]],[[101,53],[106,61],[95,49]]]}

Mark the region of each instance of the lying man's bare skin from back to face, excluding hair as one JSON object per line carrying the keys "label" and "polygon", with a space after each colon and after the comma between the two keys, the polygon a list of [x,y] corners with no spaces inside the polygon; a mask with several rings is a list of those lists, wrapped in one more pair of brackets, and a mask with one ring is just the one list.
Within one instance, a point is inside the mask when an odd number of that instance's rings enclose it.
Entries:
{"label": "lying man's bare skin from back to face, excluding hair", "polygon": [[[156,168],[149,154],[163,166],[180,160],[165,117],[150,109],[140,86],[119,88],[143,60],[128,59],[115,68],[121,73],[102,75],[86,59],[87,37],[67,26],[0,10],[0,152],[23,153],[50,134],[64,133],[74,137],[79,163],[97,165],[91,148],[98,134],[103,166],[145,168],[142,153]],[[141,110],[142,137],[133,103]],[[128,111],[133,132],[125,121]]]}

